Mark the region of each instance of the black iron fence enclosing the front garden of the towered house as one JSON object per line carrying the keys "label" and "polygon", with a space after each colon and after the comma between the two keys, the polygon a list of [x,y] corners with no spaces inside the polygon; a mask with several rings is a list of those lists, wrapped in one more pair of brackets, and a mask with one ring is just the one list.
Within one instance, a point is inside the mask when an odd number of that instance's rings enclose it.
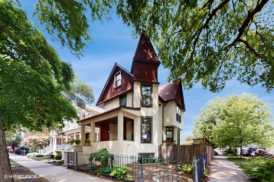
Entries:
{"label": "black iron fence enclosing the front garden of the towered house", "polygon": [[207,154],[188,161],[68,152],[67,161],[68,168],[132,182],[200,182],[207,168]]}

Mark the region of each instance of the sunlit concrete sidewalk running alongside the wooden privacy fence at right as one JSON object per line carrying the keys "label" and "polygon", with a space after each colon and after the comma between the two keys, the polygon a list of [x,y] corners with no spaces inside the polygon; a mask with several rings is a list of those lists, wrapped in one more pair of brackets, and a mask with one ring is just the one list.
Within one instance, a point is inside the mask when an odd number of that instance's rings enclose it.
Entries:
{"label": "sunlit concrete sidewalk running alongside the wooden privacy fence at right", "polygon": [[220,151],[214,156],[209,170],[208,182],[251,182],[243,170],[227,159]]}

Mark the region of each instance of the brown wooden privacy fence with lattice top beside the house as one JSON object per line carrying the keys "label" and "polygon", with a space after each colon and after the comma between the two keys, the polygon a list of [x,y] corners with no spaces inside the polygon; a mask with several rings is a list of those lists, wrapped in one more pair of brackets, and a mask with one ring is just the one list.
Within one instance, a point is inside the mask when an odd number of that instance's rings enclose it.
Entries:
{"label": "brown wooden privacy fence with lattice top beside the house", "polygon": [[192,157],[207,153],[207,162],[213,158],[213,147],[208,139],[193,139],[191,145],[160,145],[158,154],[160,159],[170,160],[187,160],[191,161]]}

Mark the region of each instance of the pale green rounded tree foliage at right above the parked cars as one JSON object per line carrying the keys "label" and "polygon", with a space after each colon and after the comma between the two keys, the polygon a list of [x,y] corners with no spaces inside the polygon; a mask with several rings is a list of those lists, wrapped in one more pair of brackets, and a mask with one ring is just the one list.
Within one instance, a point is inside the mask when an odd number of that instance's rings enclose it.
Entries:
{"label": "pale green rounded tree foliage at right above the parked cars", "polygon": [[241,147],[257,144],[273,145],[273,131],[270,105],[263,103],[257,96],[243,93],[229,95],[226,99],[215,98],[206,104],[195,119],[195,137],[209,134],[216,146]]}

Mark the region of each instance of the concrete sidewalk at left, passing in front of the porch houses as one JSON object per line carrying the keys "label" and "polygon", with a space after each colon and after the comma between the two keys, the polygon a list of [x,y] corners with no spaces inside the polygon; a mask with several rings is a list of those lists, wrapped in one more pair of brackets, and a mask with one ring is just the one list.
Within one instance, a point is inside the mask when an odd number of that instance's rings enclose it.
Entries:
{"label": "concrete sidewalk at left, passing in front of the porch houses", "polygon": [[111,179],[91,176],[87,173],[69,170],[64,166],[54,166],[11,153],[9,153],[9,158],[52,182],[113,182]]}

